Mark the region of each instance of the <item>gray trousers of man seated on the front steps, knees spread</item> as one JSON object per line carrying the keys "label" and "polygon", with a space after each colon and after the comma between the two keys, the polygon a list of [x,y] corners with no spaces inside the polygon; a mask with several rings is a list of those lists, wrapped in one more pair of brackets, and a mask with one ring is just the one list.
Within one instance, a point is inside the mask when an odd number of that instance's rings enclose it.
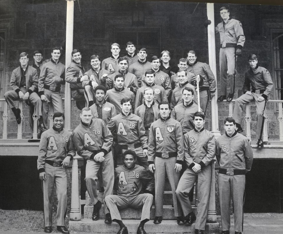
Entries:
{"label": "gray trousers of man seated on the front steps, knees spread", "polygon": [[110,211],[112,220],[122,220],[118,208],[125,209],[131,207],[137,209],[142,207],[141,221],[143,221],[149,220],[152,200],[153,195],[149,193],[139,194],[130,198],[119,195],[108,195],[105,198],[105,203]]}

